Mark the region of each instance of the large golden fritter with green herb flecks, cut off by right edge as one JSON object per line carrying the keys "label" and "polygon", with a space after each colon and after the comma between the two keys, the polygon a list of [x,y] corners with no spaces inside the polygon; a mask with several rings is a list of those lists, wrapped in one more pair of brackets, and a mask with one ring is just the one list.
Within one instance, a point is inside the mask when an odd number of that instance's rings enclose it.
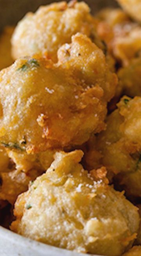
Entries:
{"label": "large golden fritter with green herb flecks, cut off by right edge", "polygon": [[97,138],[98,160],[128,195],[141,197],[141,97],[124,96],[117,106]]}

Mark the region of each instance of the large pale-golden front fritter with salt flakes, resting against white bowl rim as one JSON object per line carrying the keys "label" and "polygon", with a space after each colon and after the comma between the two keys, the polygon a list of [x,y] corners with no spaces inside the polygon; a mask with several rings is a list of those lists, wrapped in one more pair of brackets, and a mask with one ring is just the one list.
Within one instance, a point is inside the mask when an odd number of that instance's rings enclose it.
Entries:
{"label": "large pale-golden front fritter with salt flakes, resting against white bowl rim", "polygon": [[84,171],[81,150],[57,152],[45,174],[16,201],[11,230],[78,252],[117,256],[130,248],[137,208],[108,186],[106,169]]}

